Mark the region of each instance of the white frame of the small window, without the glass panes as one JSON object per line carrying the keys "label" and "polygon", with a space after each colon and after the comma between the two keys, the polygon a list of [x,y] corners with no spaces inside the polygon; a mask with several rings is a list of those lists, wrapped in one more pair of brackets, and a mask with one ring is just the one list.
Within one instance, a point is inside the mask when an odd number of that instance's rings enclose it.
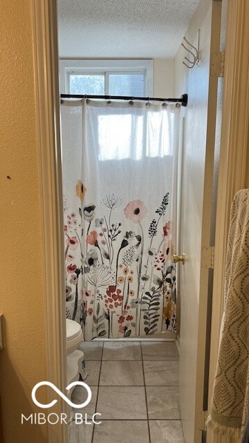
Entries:
{"label": "white frame of the small window, without the glass panes", "polygon": [[109,75],[139,73],[144,75],[143,95],[153,96],[153,60],[59,60],[59,89],[61,93],[70,93],[69,77],[75,75],[104,75],[105,94],[109,95]]}

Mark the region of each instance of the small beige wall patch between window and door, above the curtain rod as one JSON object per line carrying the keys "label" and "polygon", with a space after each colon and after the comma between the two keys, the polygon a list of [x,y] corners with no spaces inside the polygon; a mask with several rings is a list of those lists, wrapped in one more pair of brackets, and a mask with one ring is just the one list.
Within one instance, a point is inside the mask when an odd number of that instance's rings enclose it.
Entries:
{"label": "small beige wall patch between window and door, above the curtain rod", "polygon": [[154,97],[169,98],[173,96],[174,59],[154,59],[153,92]]}

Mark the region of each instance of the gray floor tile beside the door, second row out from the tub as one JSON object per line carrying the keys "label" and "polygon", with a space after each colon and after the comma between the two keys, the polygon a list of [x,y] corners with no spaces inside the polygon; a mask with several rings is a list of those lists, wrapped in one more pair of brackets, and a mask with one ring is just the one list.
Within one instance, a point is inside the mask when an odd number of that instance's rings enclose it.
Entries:
{"label": "gray floor tile beside the door, second row out from the tub", "polygon": [[145,385],[178,386],[178,361],[144,361]]}

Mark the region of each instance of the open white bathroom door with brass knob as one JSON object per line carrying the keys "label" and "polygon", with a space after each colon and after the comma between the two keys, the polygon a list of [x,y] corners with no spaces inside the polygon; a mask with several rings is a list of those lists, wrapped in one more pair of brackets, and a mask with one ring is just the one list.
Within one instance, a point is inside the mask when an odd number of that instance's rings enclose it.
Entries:
{"label": "open white bathroom door with brass knob", "polygon": [[[216,2],[214,1],[214,3]],[[201,29],[201,62],[194,69],[187,69],[183,65],[187,53],[182,46],[178,48],[174,60],[174,96],[179,96],[183,92],[189,94],[189,105],[186,109],[182,108],[181,111],[181,116],[185,117],[183,148],[185,155],[183,165],[185,194],[183,192],[183,195],[185,198],[183,201],[184,221],[181,252],[186,253],[189,260],[185,269],[180,270],[182,293],[178,292],[177,294],[178,307],[180,302],[183,314],[180,337],[179,403],[186,443],[201,441],[201,432],[197,431],[195,426],[195,413],[203,410],[206,316],[203,300],[208,292],[208,275],[202,273],[200,278],[200,268],[201,247],[210,236],[208,217],[205,229],[202,217],[206,215],[206,213],[203,214],[203,190],[205,188],[205,202],[207,203],[204,208],[209,208],[210,195],[207,193],[207,177],[212,177],[209,170],[205,176],[206,159],[210,160],[207,164],[212,165],[210,132],[214,129],[211,125],[211,118],[208,119],[210,46],[214,45],[213,34],[211,44],[211,23],[212,0],[201,0],[185,33],[187,39],[196,44],[197,31],[199,28]],[[214,85],[212,86],[213,90]],[[212,186],[209,189],[212,192]],[[194,226],[194,232],[192,226]],[[182,296],[181,300],[179,296]],[[179,320],[179,309],[177,317]]]}

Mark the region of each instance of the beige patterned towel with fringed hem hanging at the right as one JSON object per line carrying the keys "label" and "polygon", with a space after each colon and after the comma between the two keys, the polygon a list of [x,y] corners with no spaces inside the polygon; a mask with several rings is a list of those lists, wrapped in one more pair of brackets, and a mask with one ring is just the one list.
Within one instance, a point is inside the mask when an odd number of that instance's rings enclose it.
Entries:
{"label": "beige patterned towel with fringed hem hanging at the right", "polygon": [[243,189],[234,196],[230,214],[224,311],[207,426],[221,435],[246,435],[248,398],[249,190]]}

